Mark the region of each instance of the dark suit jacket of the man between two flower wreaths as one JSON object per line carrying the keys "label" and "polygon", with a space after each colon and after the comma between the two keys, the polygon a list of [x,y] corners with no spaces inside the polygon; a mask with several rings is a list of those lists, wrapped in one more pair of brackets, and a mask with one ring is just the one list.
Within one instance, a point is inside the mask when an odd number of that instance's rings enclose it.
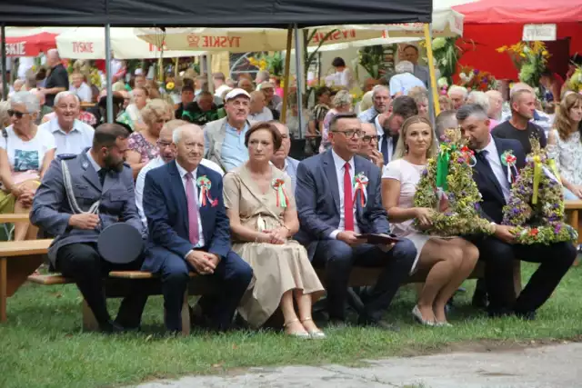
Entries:
{"label": "dark suit jacket of the man between two flower wreaths", "polygon": [[[526,165],[526,154],[524,149],[517,140],[501,139],[496,136],[491,136],[497,147],[497,154],[501,154],[508,150],[513,151],[516,156],[517,170],[522,169]],[[503,169],[507,178],[507,168]],[[491,172],[485,164],[477,159],[477,164],[473,167],[473,180],[477,184],[477,188],[481,193],[483,200],[481,202],[482,215],[488,220],[500,224],[503,220],[503,206],[506,205],[506,199],[501,191],[501,186],[493,172]],[[485,213],[485,214],[483,214]]]}

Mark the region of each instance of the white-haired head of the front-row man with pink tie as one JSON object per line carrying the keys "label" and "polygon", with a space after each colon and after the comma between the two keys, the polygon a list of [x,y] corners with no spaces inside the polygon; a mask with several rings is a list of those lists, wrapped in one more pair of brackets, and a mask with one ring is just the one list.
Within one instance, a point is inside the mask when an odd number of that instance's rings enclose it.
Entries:
{"label": "white-haired head of the front-row man with pink tie", "polygon": [[191,173],[198,167],[204,154],[204,133],[196,124],[181,125],[172,135],[176,162]]}

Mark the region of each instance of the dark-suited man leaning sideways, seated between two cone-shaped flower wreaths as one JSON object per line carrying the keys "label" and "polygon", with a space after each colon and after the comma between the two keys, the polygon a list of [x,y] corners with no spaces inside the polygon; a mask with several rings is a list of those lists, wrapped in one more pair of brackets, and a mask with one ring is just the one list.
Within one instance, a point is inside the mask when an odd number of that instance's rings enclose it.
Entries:
{"label": "dark-suited man leaning sideways, seated between two cone-shaped flower wreaths", "polygon": [[[492,236],[473,239],[480,260],[486,263],[488,313],[490,316],[515,313],[524,319],[534,319],[537,308],[547,301],[576,259],[576,248],[571,243],[516,244],[511,227],[501,225],[503,206],[507,204],[511,190],[511,177],[507,174],[507,166],[501,162],[501,155],[512,151],[517,157],[519,170],[526,164],[523,147],[517,140],[489,134],[487,112],[479,105],[461,107],[457,120],[469,147],[476,153],[473,179],[483,196],[481,213],[496,229]],[[541,264],[517,299],[513,285],[514,260]]]}

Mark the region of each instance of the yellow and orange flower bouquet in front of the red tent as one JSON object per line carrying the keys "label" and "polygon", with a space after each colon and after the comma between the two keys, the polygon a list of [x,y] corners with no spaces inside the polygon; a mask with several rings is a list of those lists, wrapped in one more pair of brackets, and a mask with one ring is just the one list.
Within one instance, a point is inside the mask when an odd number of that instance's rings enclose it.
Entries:
{"label": "yellow and orange flower bouquet in front of the red tent", "polygon": [[539,78],[546,70],[547,59],[551,56],[547,52],[544,42],[517,42],[515,45],[504,45],[497,48],[498,53],[507,53],[513,64],[519,70],[519,81],[537,87]]}

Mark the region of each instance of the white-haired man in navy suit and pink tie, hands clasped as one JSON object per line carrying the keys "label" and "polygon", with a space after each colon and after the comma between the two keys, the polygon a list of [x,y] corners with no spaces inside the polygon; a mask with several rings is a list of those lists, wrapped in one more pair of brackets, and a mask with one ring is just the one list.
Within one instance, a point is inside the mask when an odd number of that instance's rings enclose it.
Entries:
{"label": "white-haired man in navy suit and pink tie, hands clasped", "polygon": [[220,293],[205,295],[198,306],[209,328],[224,331],[253,277],[230,250],[220,174],[200,164],[204,134],[194,124],[173,134],[176,160],[146,174],[144,213],[149,230],[144,270],[162,277],[166,328],[178,332],[188,273],[211,276]]}

